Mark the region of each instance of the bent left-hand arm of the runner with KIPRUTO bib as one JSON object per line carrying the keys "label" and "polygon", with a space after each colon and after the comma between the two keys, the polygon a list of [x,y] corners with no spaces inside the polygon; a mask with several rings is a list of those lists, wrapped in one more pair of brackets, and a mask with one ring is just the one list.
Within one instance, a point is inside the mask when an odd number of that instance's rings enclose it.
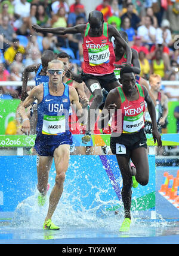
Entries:
{"label": "bent left-hand arm of the runner with KIPRUTO bib", "polygon": [[116,97],[118,95],[118,92],[116,92],[116,88],[111,90],[109,94],[107,95],[104,108],[102,112],[100,113],[100,118],[98,120],[98,128],[102,129],[107,126],[110,118],[112,117],[114,110],[116,108],[120,109],[120,105],[118,103],[118,99]]}

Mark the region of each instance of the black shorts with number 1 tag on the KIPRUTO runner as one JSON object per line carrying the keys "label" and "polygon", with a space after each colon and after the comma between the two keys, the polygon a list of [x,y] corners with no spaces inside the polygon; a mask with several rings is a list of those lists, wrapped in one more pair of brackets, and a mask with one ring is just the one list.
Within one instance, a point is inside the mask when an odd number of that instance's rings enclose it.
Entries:
{"label": "black shorts with number 1 tag on the KIPRUTO runner", "polygon": [[138,147],[147,148],[147,138],[144,129],[132,134],[122,133],[121,136],[110,137],[110,149],[113,155],[131,156],[131,152]]}

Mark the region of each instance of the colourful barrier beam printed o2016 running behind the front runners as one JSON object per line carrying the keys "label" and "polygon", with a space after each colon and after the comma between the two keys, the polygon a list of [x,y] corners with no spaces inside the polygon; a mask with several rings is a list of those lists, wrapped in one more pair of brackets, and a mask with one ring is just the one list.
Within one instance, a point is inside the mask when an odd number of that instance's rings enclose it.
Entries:
{"label": "colourful barrier beam printed o2016 running behind the front runners", "polygon": [[[82,143],[84,135],[73,135],[74,146],[110,146],[110,134],[91,135],[91,141],[87,144]],[[146,134],[147,145],[154,144],[152,134]],[[179,146],[179,134],[162,134],[163,146]],[[33,147],[36,135],[0,135],[0,147]]]}

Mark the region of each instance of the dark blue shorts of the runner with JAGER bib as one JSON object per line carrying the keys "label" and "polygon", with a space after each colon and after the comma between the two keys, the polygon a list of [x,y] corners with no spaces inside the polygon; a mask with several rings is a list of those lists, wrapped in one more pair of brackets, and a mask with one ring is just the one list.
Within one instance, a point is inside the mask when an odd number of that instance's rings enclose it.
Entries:
{"label": "dark blue shorts of the runner with JAGER bib", "polygon": [[41,156],[54,156],[54,151],[63,144],[73,144],[71,132],[61,135],[37,134],[35,140],[35,150]]}

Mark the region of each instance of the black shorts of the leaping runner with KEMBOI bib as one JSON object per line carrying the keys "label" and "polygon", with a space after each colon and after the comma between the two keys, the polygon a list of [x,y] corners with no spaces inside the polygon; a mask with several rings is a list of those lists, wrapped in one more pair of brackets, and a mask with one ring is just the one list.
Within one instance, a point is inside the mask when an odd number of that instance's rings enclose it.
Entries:
{"label": "black shorts of the leaping runner with KEMBOI bib", "polygon": [[90,79],[98,80],[98,82],[101,85],[101,88],[102,89],[104,88],[107,92],[109,92],[109,89],[108,89],[109,83],[118,81],[118,79],[116,79],[115,73],[107,74],[104,76],[94,76],[92,74],[87,74],[87,73],[82,72],[81,76],[82,76],[82,80],[84,82],[86,82],[87,80],[90,80]]}

